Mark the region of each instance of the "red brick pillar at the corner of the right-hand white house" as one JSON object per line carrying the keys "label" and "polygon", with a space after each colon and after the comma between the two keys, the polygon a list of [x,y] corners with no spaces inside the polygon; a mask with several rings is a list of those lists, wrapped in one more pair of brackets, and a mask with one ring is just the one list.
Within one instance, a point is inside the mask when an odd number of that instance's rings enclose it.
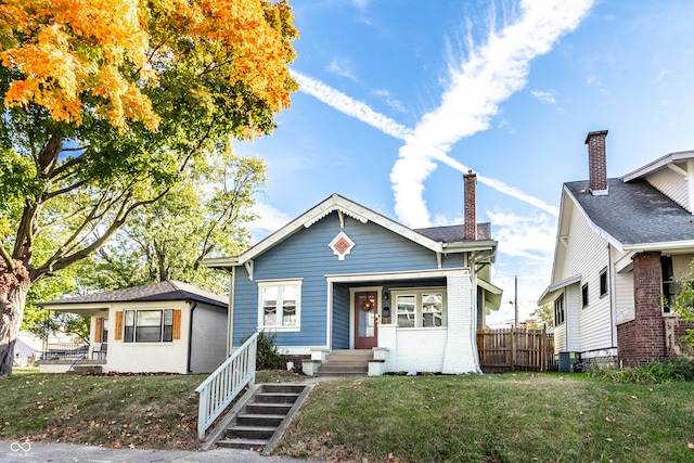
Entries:
{"label": "red brick pillar at the corner of the right-hand white house", "polygon": [[634,256],[634,319],[617,326],[618,356],[624,365],[643,364],[667,355],[660,272],[659,253]]}

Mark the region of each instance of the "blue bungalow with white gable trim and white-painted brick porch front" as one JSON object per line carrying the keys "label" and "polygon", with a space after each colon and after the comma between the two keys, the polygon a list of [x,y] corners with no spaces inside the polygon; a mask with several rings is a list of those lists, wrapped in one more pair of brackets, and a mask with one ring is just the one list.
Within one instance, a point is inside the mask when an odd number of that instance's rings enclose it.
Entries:
{"label": "blue bungalow with white gable trim and white-painted brick porch front", "polygon": [[283,353],[368,349],[369,374],[480,372],[476,329],[499,308],[489,282],[497,242],[476,223],[476,176],[464,176],[465,224],[410,229],[334,194],[236,257],[229,272],[229,353],[256,331]]}

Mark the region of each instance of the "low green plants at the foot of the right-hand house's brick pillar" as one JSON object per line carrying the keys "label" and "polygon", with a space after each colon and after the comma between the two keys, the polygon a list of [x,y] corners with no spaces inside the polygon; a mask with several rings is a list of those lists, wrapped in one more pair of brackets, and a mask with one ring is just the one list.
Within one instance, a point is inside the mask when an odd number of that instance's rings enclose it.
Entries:
{"label": "low green plants at the foot of the right-hand house's brick pillar", "polygon": [[694,360],[674,358],[632,368],[591,369],[591,376],[611,383],[663,384],[694,382]]}

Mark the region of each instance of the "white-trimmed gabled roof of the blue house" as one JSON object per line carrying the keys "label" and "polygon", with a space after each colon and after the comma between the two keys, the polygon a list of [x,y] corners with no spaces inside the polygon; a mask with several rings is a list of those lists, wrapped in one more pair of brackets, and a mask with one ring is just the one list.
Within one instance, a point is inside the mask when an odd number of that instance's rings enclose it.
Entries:
{"label": "white-trimmed gabled roof of the blue house", "polygon": [[[217,268],[243,265],[253,260],[271,247],[280,244],[299,230],[311,227],[313,223],[334,211],[338,213],[340,221],[344,220],[343,216],[351,217],[362,223],[371,221],[436,253],[444,252],[444,248],[446,248],[446,252],[448,253],[461,252],[464,250],[465,246],[468,244],[475,248],[479,247],[479,244],[485,244],[486,247],[489,248],[496,248],[497,245],[497,242],[492,241],[490,237],[491,227],[489,223],[479,223],[477,226],[478,235],[480,236],[478,240],[464,241],[462,240],[463,226],[435,227],[414,230],[375,213],[368,207],[355,203],[354,201],[347,200],[344,196],[333,194],[277,232],[272,233],[270,236],[262,240],[260,243],[242,253],[240,256],[209,258],[205,259],[203,263],[208,267]],[[458,239],[455,236],[458,236]],[[449,245],[453,243],[459,244],[459,246],[454,248],[450,247]]]}

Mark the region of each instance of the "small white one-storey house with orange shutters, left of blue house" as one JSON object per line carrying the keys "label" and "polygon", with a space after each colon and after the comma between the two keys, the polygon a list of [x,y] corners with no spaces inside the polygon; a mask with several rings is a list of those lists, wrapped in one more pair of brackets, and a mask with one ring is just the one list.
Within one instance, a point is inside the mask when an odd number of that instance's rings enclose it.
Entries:
{"label": "small white one-storey house with orange shutters, left of blue house", "polygon": [[91,317],[88,361],[104,373],[210,373],[227,358],[226,297],[178,281],[40,304]]}

